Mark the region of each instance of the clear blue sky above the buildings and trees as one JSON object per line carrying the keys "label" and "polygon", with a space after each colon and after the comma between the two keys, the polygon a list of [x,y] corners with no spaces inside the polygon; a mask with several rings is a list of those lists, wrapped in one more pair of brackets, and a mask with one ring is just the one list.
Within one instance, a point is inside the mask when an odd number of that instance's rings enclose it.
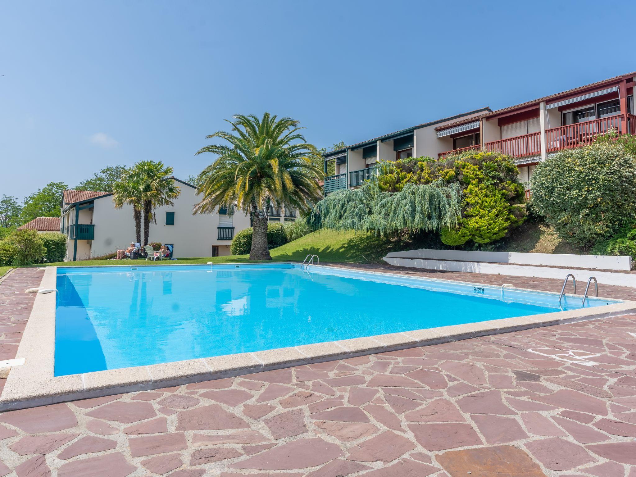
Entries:
{"label": "clear blue sky above the buildings and trees", "polygon": [[198,173],[236,113],[292,116],[329,146],[511,106],[636,70],[633,18],[596,1],[3,0],[0,195],[141,159]]}

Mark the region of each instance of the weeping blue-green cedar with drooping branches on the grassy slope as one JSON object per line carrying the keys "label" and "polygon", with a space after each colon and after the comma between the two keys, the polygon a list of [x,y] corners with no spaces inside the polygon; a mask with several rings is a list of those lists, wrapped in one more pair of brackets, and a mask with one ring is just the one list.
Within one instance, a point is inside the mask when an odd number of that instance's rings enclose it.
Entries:
{"label": "weeping blue-green cedar with drooping branches on the grassy slope", "polygon": [[407,183],[398,192],[378,188],[377,176],[359,189],[329,194],[315,207],[312,225],[390,236],[457,227],[462,191],[457,184]]}

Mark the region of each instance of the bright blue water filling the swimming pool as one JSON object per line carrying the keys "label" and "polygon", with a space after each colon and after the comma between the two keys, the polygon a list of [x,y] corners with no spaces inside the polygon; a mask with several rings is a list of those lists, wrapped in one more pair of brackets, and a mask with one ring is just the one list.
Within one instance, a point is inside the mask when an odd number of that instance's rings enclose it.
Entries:
{"label": "bright blue water filling the swimming pool", "polygon": [[[57,269],[55,375],[579,308],[581,298],[294,264]],[[606,305],[590,299],[586,307]]]}

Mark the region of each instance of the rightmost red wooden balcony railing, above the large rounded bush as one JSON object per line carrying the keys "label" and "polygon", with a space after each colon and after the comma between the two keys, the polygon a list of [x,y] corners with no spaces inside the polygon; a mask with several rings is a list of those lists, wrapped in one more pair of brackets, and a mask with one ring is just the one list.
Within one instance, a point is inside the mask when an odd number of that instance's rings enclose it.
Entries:
{"label": "rightmost red wooden balcony railing, above the large rounded bush", "polygon": [[[630,114],[630,116],[632,116]],[[599,134],[607,134],[612,128],[621,133],[621,123],[624,119],[622,114],[607,116],[597,120],[585,121],[584,123],[574,123],[567,126],[546,129],[547,151],[560,151],[561,149],[572,149],[579,146],[586,146],[594,142]],[[630,121],[631,123],[631,121]]]}

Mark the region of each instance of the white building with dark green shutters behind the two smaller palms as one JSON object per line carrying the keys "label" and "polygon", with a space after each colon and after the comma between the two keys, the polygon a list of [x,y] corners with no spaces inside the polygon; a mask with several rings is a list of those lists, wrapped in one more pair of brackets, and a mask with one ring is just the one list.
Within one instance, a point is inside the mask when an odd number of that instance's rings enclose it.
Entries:
{"label": "white building with dark green shutters behind the two smaller palms", "polygon": [[[174,258],[229,255],[235,233],[251,226],[249,214],[221,209],[193,215],[192,207],[200,201],[196,188],[174,180],[181,193],[174,205],[155,209],[156,224],[151,223],[149,242],[172,245]],[[272,221],[277,219],[277,211],[270,210],[274,212]],[[284,220],[285,211],[278,212]],[[136,241],[132,206],[115,209],[113,194],[106,192],[64,191],[59,230],[68,237],[67,260],[105,256]]]}

